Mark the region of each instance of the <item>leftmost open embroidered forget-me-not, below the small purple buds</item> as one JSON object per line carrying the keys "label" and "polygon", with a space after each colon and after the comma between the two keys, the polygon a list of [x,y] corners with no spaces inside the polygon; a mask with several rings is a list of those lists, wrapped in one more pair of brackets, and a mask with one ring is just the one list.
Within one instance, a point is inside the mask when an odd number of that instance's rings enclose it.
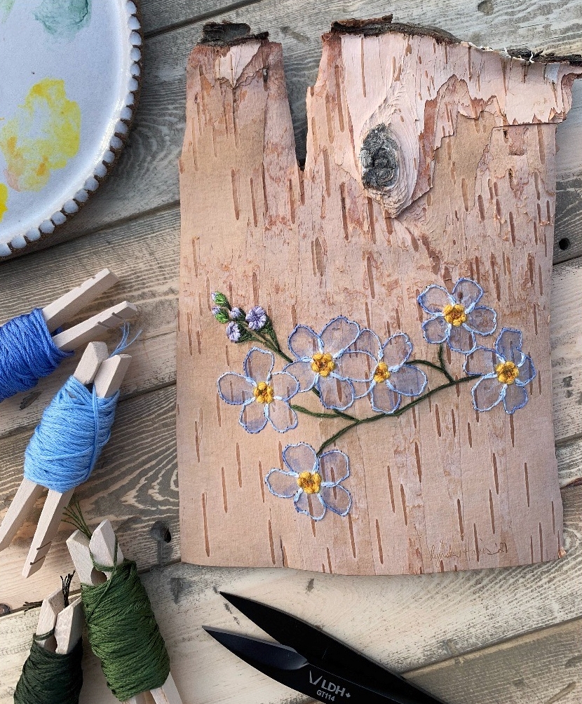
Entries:
{"label": "leftmost open embroidered forget-me-not, below the small purple buds", "polygon": [[287,372],[273,372],[274,355],[253,347],[243,363],[244,375],[227,372],[218,379],[222,401],[242,406],[239,422],[248,433],[260,432],[267,422],[279,433],[297,426],[297,414],[289,401],[299,389]]}

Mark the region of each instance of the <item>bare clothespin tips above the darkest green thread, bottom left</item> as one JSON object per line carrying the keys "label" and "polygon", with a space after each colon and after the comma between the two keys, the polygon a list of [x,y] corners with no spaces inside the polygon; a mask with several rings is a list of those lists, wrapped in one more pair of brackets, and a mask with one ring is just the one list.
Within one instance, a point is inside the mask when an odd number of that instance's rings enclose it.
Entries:
{"label": "bare clothespin tips above the darkest green thread, bottom left", "polygon": [[37,634],[46,638],[37,643],[45,650],[67,655],[75,648],[82,635],[83,608],[81,597],[65,606],[63,589],[57,589],[44,599],[40,608]]}

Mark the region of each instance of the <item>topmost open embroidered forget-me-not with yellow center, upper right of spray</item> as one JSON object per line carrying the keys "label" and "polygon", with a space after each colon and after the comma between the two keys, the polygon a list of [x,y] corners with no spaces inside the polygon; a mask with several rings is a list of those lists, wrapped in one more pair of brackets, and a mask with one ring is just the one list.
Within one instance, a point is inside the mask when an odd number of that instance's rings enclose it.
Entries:
{"label": "topmost open embroidered forget-me-not with yellow center, upper right of spray", "polygon": [[459,279],[450,294],[433,284],[417,298],[419,306],[431,316],[422,323],[424,339],[431,344],[446,342],[453,352],[468,354],[476,347],[475,333],[491,335],[497,327],[497,313],[488,306],[477,306],[483,289],[472,279]]}

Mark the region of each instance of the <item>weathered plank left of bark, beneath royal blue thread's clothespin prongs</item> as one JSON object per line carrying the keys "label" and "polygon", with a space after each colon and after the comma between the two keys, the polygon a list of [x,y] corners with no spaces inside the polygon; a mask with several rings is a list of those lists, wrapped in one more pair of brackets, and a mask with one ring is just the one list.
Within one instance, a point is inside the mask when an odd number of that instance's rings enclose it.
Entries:
{"label": "weathered plank left of bark, beneath royal blue thread's clothespin prongs", "polygon": [[[88,240],[11,260],[2,267],[0,321],[44,306],[107,266],[120,277],[120,283],[72,322],[119,301],[136,303],[140,313],[131,329],[143,332],[129,350],[133,359],[122,384],[122,398],[171,384],[176,378],[178,233],[179,212],[174,208],[92,234]],[[105,339],[113,351],[119,333]],[[78,355],[65,360],[34,389],[1,403],[0,437],[37,425],[46,404],[75,370],[77,361]],[[0,468],[3,461],[0,458]]]}

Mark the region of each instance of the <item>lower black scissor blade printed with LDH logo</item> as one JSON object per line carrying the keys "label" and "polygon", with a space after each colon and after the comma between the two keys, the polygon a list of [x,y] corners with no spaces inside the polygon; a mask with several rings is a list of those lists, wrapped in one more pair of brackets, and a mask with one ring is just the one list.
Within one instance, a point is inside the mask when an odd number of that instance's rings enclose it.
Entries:
{"label": "lower black scissor blade printed with LDH logo", "polygon": [[210,628],[204,630],[222,646],[271,679],[313,699],[336,704],[415,704],[395,699],[314,667],[293,648]]}

